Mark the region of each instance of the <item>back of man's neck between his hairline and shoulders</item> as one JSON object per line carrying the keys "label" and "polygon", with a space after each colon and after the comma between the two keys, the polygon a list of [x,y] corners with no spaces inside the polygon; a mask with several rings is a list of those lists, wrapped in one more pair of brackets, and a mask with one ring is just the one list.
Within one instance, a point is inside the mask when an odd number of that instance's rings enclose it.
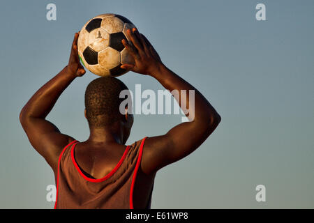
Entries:
{"label": "back of man's neck between his hairline and shoulders", "polygon": [[[115,127],[115,128],[114,128]],[[100,128],[90,128],[91,134],[89,135],[90,143],[96,144],[109,144],[118,143],[124,144],[124,134],[121,128],[117,125],[112,125],[111,127],[100,127]]]}

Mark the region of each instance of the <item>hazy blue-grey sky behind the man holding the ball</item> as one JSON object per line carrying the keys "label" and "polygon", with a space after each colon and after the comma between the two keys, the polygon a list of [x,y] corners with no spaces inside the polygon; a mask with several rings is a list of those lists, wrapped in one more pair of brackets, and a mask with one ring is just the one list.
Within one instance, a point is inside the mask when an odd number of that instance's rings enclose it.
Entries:
{"label": "hazy blue-grey sky behind the man holding the ball", "polygon": [[[57,20],[46,20],[55,3]],[[264,3],[266,21],[255,19]],[[314,208],[314,1],[2,1],[0,208],[53,208],[54,176],[18,116],[68,63],[73,34],[91,17],[124,15],[167,67],[193,84],[222,121],[194,153],[156,175],[151,208]],[[89,137],[87,71],[47,117],[79,141]],[[129,72],[130,90],[162,89]],[[164,134],[180,115],[137,115],[128,144]],[[182,139],[184,140],[184,139]],[[255,187],[266,187],[266,202]]]}

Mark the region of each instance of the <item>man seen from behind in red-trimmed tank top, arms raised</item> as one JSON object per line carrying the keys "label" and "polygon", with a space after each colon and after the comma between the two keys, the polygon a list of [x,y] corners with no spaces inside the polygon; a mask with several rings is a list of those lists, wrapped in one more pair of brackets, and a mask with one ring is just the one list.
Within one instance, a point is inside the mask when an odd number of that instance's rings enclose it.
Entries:
{"label": "man seen from behind in red-trimmed tank top, arms raised", "polygon": [[128,107],[121,114],[119,93],[126,86],[117,78],[94,79],[85,93],[85,117],[90,137],[79,142],[45,118],[68,85],[84,75],[77,56],[75,33],[68,65],[43,85],[20,113],[20,122],[33,148],[52,167],[57,185],[55,208],[150,208],[156,172],[189,155],[215,130],[220,116],[204,96],[169,70],[156,50],[137,29],[128,30],[133,45],[122,40],[135,64],[121,68],[154,77],[170,92],[182,109],[190,98],[180,92],[194,91],[195,109],[186,114],[190,121],[167,133],[145,137],[124,145],[133,125]]}

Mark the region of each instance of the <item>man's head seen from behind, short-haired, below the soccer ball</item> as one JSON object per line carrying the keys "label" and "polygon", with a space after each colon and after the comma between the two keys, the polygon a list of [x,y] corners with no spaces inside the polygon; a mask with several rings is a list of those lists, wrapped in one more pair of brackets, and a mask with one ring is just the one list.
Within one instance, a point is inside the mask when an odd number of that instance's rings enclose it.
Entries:
{"label": "man's head seen from behind, short-haired, below the soccer ball", "polygon": [[133,125],[133,114],[128,113],[128,107],[120,112],[120,104],[124,98],[119,98],[120,92],[128,90],[121,80],[115,77],[99,77],[94,79],[85,91],[85,117],[89,128],[107,129],[113,134],[123,134],[125,142]]}

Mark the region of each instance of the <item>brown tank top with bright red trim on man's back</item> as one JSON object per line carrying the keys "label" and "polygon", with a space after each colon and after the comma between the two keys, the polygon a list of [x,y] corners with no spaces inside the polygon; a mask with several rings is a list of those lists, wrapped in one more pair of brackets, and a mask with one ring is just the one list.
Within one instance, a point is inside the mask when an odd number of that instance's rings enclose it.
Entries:
{"label": "brown tank top with bright red trim on man's back", "polygon": [[[146,138],[127,146],[116,167],[98,179],[82,173],[74,155],[78,141],[70,142],[59,156],[54,209],[133,209],[133,190]],[[151,193],[146,208],[151,207]]]}

